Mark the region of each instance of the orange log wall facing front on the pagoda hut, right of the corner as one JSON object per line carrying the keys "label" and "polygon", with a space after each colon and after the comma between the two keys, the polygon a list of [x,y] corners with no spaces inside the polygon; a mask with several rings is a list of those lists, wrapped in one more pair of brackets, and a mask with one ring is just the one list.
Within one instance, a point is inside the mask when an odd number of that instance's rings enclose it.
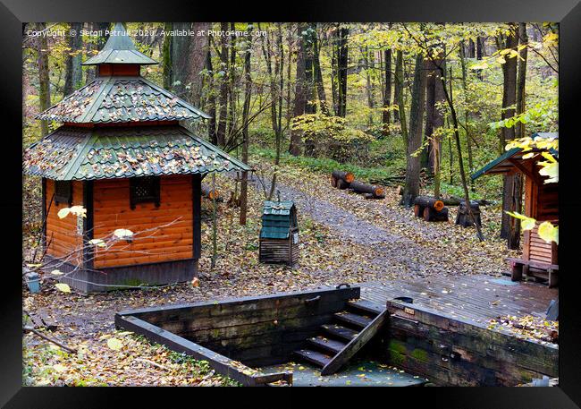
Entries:
{"label": "orange log wall facing front on the pagoda hut, right of the corner", "polygon": [[[138,234],[131,243],[122,241],[108,251],[97,251],[94,268],[194,257],[191,175],[162,176],[158,208],[155,203],[138,203],[131,209],[129,179],[99,180],[93,186],[94,238],[111,234],[117,228],[133,233],[155,229]],[[172,222],[171,226],[164,226]]]}

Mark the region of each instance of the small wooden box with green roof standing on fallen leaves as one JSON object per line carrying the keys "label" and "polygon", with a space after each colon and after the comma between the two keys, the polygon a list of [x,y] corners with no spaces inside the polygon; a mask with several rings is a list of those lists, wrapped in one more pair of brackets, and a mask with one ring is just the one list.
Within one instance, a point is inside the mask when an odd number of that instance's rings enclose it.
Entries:
{"label": "small wooden box with green roof standing on fallen leaves", "polygon": [[258,259],[290,266],[299,261],[299,225],[292,201],[265,201]]}

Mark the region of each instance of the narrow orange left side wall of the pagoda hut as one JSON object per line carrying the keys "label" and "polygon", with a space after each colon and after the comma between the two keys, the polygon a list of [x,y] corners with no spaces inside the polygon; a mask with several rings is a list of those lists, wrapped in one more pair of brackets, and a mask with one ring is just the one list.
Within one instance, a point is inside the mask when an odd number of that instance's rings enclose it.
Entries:
{"label": "narrow orange left side wall of the pagoda hut", "polygon": [[[66,257],[68,262],[79,266],[82,263],[82,252],[80,249],[83,245],[82,233],[77,232],[77,217],[69,215],[59,218],[58,211],[68,208],[69,203],[56,204],[53,200],[55,194],[55,181],[46,179],[45,188],[46,203],[46,254],[53,257]],[[72,206],[83,205],[83,184],[81,182],[72,182]],[[77,252],[75,252],[77,251]]]}

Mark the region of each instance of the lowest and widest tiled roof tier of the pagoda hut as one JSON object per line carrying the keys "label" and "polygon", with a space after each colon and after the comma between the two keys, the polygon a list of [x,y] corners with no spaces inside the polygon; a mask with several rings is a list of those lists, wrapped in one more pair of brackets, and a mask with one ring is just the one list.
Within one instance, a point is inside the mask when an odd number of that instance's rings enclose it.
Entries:
{"label": "lowest and widest tiled roof tier of the pagoda hut", "polygon": [[95,180],[250,170],[182,126],[62,126],[27,149],[29,175]]}

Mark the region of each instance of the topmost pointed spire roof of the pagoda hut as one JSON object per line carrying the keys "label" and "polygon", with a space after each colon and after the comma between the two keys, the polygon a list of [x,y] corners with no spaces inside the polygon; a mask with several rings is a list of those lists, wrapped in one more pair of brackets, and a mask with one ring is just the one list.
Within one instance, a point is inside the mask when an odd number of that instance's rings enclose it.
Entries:
{"label": "topmost pointed spire roof of the pagoda hut", "polygon": [[151,65],[159,63],[139,52],[122,23],[116,22],[114,30],[109,34],[105,47],[97,55],[82,63],[82,65],[98,64]]}

